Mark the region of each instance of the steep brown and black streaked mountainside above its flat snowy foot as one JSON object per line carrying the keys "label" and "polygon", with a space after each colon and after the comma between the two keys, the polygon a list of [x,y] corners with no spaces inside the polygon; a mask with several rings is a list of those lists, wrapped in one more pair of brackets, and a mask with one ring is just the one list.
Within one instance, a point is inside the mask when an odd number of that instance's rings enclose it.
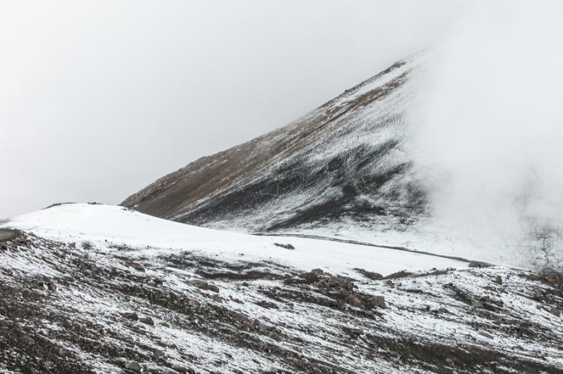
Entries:
{"label": "steep brown and black streaked mountainside above its flat snowy foot", "polygon": [[395,63],[296,122],[159,179],[122,205],[213,228],[400,228],[424,214],[403,114],[420,57]]}

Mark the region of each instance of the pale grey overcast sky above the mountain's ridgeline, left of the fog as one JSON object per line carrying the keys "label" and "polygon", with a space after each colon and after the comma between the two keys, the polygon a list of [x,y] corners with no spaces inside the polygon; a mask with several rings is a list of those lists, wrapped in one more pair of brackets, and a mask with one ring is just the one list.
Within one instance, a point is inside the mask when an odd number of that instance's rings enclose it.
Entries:
{"label": "pale grey overcast sky above the mountain's ridgeline, left of the fog", "polygon": [[443,39],[462,1],[1,1],[0,217],[117,204]]}

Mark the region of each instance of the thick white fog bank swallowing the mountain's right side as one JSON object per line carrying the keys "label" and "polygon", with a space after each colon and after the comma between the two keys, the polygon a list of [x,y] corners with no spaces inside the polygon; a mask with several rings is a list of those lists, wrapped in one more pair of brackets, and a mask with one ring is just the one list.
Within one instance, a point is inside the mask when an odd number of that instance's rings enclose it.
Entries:
{"label": "thick white fog bank swallowing the mountain's right side", "polygon": [[[559,1],[479,1],[417,75],[415,160],[434,224],[562,260]],[[559,263],[559,268],[562,264]]]}

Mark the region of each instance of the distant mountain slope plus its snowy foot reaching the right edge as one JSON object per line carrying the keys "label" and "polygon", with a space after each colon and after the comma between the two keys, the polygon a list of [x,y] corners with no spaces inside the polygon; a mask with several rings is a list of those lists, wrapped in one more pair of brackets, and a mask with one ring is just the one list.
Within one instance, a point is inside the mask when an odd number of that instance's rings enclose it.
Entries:
{"label": "distant mountain slope plus its snowy foot reaching the right edge", "polygon": [[521,233],[501,235],[495,217],[471,228],[431,217],[429,183],[423,183],[430,177],[415,167],[405,122],[417,71],[429,57],[401,60],[296,122],[192,162],[122,205],[209,228],[323,236],[562,271],[560,245],[546,249],[543,229],[525,224]]}

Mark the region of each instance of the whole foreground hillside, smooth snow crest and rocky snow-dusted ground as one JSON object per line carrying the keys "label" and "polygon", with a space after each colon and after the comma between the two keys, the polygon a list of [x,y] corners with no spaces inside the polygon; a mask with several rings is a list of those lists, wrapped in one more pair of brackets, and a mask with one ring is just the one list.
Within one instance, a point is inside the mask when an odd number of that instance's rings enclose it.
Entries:
{"label": "whole foreground hillside, smooth snow crest and rocky snow-dusted ground", "polygon": [[8,373],[563,371],[557,276],[123,207],[4,222],[0,289]]}

